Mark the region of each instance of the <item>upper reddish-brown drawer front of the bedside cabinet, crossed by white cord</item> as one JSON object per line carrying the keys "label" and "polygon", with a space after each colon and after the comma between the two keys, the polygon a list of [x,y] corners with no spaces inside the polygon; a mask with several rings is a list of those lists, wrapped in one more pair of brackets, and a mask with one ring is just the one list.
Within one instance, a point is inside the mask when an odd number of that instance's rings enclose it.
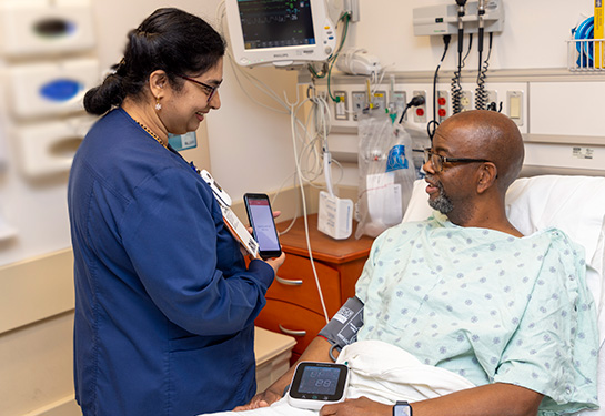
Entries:
{"label": "upper reddish-brown drawer front of the bedside cabinet, crossed by white cord", "polygon": [[[327,315],[333,316],[341,307],[340,273],[325,264],[315,262]],[[320,294],[309,258],[286,254],[278,277],[266,292],[268,300],[284,301],[304,306],[323,315]]]}

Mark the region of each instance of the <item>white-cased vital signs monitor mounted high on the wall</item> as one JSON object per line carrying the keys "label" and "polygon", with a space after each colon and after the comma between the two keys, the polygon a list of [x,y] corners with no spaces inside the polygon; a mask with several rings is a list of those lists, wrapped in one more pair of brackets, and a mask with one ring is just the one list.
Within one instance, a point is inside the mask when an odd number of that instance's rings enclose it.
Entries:
{"label": "white-cased vital signs monitor mounted high on the wall", "polygon": [[325,61],[336,48],[336,30],[325,0],[225,0],[235,62],[276,67]]}

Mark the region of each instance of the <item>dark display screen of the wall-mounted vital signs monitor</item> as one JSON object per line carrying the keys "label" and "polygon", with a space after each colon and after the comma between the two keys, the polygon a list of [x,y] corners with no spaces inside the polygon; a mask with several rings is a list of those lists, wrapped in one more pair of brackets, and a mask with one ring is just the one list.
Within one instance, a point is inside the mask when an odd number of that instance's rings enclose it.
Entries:
{"label": "dark display screen of the wall-mounted vital signs monitor", "polygon": [[246,50],[315,44],[311,0],[238,0]]}

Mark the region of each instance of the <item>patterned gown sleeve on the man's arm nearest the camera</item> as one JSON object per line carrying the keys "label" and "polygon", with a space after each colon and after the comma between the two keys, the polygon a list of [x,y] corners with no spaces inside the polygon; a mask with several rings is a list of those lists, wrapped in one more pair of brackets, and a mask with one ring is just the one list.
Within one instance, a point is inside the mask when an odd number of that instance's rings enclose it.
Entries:
{"label": "patterned gown sleeve on the man's arm nearest the camera", "polygon": [[[540,414],[596,408],[598,335],[582,247],[549,231],[540,276],[494,377],[545,395]],[[563,407],[565,405],[565,407]]]}

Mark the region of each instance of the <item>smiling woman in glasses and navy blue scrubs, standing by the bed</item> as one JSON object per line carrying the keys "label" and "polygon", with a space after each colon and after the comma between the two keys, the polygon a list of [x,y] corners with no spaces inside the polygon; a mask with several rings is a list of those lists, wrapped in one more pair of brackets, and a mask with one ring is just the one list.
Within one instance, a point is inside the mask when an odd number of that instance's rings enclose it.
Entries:
{"label": "smiling woman in glasses and navy blue scrubs, standing by the bed", "polygon": [[252,260],[168,144],[221,105],[223,39],[159,9],[90,90],[102,115],[73,160],[75,396],[84,415],[188,416],[255,393],[254,318],[284,256]]}

